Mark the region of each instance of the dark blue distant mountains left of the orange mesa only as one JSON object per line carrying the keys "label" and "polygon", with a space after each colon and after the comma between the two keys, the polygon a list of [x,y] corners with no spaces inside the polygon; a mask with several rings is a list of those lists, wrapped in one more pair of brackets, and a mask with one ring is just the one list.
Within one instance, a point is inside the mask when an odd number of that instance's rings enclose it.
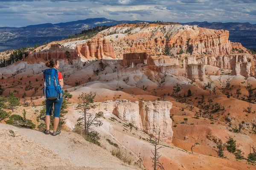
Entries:
{"label": "dark blue distant mountains left of the orange mesa only", "polygon": [[145,21],[116,21],[106,18],[89,18],[67,23],[45,23],[26,27],[0,27],[0,51],[16,49],[17,47],[33,47],[35,44],[61,40],[69,35],[80,33],[84,29],[96,26],[114,26],[122,23],[140,23]]}

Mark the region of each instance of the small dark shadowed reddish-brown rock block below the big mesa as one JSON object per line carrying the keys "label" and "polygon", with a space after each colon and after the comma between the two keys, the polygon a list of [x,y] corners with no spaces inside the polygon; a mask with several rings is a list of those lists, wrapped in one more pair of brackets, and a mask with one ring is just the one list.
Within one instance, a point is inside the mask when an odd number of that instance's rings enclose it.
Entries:
{"label": "small dark shadowed reddish-brown rock block below the big mesa", "polygon": [[127,66],[127,65],[132,65],[132,63],[134,65],[137,64],[147,64],[147,59],[148,59],[148,55],[147,53],[127,53],[127,54],[123,54],[123,62],[122,65],[123,66]]}

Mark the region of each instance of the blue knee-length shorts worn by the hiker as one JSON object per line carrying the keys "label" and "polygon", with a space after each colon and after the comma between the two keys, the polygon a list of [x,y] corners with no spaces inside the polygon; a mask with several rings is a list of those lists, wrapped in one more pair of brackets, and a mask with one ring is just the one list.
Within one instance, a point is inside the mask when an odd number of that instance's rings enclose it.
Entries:
{"label": "blue knee-length shorts worn by the hiker", "polygon": [[52,114],[53,103],[54,103],[54,117],[60,117],[62,97],[60,97],[59,99],[46,100],[46,115]]}

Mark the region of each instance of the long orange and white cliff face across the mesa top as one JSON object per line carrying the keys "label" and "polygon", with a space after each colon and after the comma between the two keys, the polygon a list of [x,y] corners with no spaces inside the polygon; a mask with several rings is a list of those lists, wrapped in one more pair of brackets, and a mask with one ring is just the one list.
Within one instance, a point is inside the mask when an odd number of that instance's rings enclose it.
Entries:
{"label": "long orange and white cliff face across the mesa top", "polygon": [[[112,35],[109,35],[112,34]],[[232,46],[229,31],[187,25],[121,24],[100,32],[112,40],[116,56],[124,53],[228,55]],[[117,37],[117,38],[116,38]]]}

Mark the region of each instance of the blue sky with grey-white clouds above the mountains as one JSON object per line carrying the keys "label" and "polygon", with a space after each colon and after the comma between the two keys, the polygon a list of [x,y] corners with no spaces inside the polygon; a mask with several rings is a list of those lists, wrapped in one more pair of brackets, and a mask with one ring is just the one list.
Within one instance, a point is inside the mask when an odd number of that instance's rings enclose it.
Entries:
{"label": "blue sky with grey-white clouds above the mountains", "polygon": [[256,24],[256,0],[0,0],[0,27],[95,17]]}

